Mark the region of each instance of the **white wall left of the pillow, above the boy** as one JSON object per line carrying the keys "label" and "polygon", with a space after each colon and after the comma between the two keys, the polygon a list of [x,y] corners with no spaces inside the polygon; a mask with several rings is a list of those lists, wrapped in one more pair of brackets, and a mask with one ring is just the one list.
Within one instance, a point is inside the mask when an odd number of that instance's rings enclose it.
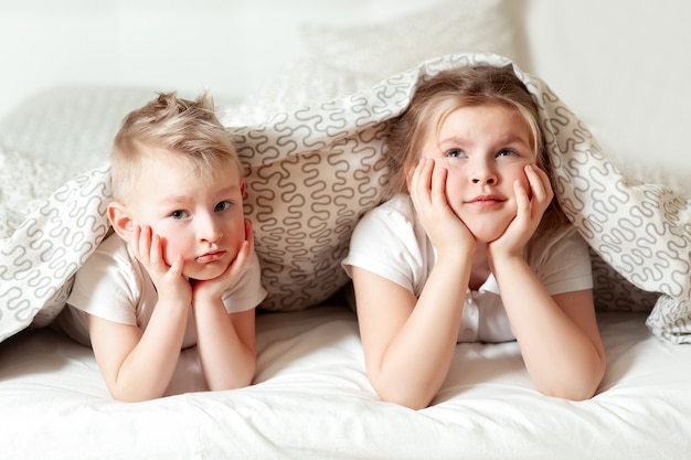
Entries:
{"label": "white wall left of the pillow, above the boy", "polygon": [[[256,93],[301,55],[299,24],[415,0],[0,0],[0,117],[55,84]],[[184,67],[184,69],[182,69]]]}

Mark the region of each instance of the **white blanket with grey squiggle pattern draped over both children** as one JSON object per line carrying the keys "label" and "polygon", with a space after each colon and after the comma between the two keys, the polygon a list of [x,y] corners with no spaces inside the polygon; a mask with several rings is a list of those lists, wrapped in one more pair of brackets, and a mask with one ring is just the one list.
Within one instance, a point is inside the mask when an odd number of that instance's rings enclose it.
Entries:
{"label": "white blanket with grey squiggle pattern draped over both children", "polygon": [[[228,128],[248,179],[245,206],[269,293],[263,307],[307,308],[347,282],[340,261],[350,235],[379,204],[386,180],[380,152],[390,120],[421,81],[477,63],[510,61],[443,56],[351,96]],[[630,182],[540,78],[517,74],[540,106],[556,195],[591,245],[598,307],[652,308],[647,324],[656,336],[691,343],[689,201]],[[104,167],[68,181],[34,211],[0,207],[0,340],[32,321],[45,324],[64,306],[75,270],[108,232],[108,197]],[[21,225],[6,223],[18,215]]]}

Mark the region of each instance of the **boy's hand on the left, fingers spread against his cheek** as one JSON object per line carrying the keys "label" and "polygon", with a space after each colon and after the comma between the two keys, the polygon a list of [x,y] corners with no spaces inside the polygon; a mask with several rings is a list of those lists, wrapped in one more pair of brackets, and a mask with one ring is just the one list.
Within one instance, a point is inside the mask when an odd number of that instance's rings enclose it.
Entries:
{"label": "boy's hand on the left, fingers spread against his cheek", "polygon": [[148,225],[135,226],[130,247],[137,260],[143,265],[151,277],[159,299],[169,298],[180,303],[190,303],[192,289],[188,279],[182,275],[184,265],[182,256],[178,256],[172,266],[168,265],[163,259],[161,238]]}

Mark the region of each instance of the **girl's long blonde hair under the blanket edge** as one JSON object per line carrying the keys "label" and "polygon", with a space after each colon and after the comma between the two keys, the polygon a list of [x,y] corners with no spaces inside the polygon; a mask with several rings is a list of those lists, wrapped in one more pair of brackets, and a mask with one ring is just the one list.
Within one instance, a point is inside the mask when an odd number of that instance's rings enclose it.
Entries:
{"label": "girl's long blonde hair under the blanket edge", "polygon": [[[451,113],[461,107],[488,104],[514,110],[525,121],[532,137],[535,163],[552,181],[552,167],[533,97],[511,65],[480,65],[440,72],[417,87],[405,113],[394,121],[386,141],[384,156],[391,180],[384,191],[385,199],[407,193],[407,171],[417,163],[429,137],[438,135]],[[559,202],[552,200],[541,226],[553,228],[565,222]]]}

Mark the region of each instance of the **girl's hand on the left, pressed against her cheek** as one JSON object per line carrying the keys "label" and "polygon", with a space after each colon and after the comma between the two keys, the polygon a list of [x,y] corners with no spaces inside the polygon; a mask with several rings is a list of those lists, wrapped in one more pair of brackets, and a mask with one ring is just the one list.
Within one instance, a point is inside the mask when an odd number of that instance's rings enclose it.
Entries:
{"label": "girl's hand on the left, pressed against her cheek", "polygon": [[476,240],[446,199],[446,168],[421,159],[411,176],[410,190],[419,221],[439,254],[474,250]]}

